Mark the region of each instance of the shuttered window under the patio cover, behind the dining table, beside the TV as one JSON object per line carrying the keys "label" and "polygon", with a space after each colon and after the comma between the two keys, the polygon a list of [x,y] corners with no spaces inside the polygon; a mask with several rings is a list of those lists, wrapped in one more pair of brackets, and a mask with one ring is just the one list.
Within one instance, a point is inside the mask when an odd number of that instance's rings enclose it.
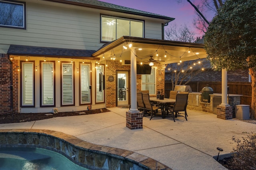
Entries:
{"label": "shuttered window under the patio cover, behind the dining table, beside the TV", "polygon": [[142,74],[141,90],[149,90],[149,94],[156,94],[156,68],[151,68],[151,74]]}

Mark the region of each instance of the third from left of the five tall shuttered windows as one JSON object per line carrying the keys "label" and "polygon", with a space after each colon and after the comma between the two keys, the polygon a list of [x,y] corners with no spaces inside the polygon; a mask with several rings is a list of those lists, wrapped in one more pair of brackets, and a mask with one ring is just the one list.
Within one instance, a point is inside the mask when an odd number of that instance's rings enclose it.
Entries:
{"label": "third from left of the five tall shuttered windows", "polygon": [[61,106],[74,106],[74,66],[73,63],[62,62],[62,103]]}

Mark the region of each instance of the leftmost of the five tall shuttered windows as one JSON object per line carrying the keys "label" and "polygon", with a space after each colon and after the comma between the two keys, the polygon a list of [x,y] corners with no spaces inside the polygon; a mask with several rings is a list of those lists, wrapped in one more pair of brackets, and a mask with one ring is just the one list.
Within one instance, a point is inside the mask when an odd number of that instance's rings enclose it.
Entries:
{"label": "leftmost of the five tall shuttered windows", "polygon": [[22,106],[34,107],[34,63],[23,62],[21,63],[21,75],[22,75]]}

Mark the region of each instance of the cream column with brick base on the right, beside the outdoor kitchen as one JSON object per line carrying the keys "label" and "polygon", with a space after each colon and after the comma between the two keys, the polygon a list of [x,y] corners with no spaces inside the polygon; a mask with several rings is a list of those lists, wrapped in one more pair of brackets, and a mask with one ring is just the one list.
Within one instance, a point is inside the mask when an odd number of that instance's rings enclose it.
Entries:
{"label": "cream column with brick base on the right, beside the outdoor kitchen", "polygon": [[228,76],[226,69],[222,69],[221,77],[221,104],[217,106],[217,118],[232,119],[232,106],[228,105]]}

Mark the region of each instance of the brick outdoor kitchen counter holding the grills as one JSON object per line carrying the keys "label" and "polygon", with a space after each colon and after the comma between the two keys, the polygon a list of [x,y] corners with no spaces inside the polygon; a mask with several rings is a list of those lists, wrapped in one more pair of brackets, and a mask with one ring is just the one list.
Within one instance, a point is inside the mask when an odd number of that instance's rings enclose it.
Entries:
{"label": "brick outdoor kitchen counter holding the grills", "polygon": [[[188,94],[187,108],[216,114],[217,113],[216,107],[221,104],[221,94],[214,93],[214,94],[209,94],[209,95],[210,95],[210,103],[202,102],[202,100],[201,100],[202,93],[201,92],[190,92]],[[228,101],[228,104],[230,104],[230,106],[235,106],[235,105],[240,104],[240,96],[243,96],[243,95],[229,94],[228,98],[230,100]]]}

